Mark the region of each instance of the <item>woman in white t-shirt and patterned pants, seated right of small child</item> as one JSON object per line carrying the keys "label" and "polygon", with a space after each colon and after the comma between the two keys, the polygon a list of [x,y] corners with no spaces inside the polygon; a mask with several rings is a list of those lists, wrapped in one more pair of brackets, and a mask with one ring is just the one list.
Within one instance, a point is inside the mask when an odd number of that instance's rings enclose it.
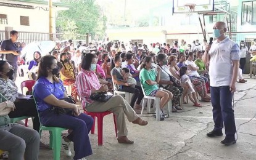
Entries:
{"label": "woman in white t-shirt and patterned pants, seated right of small child", "polygon": [[[197,73],[197,70],[199,70],[199,67],[196,65],[196,63],[193,62],[193,60],[194,60],[194,53],[189,52],[188,59],[185,62],[185,64],[188,66],[188,71],[189,71],[188,76],[191,79],[192,84],[194,84],[194,81],[200,81],[202,83],[203,93],[199,92],[199,95],[200,97],[202,97],[202,102],[210,102],[210,96],[207,95],[207,90],[205,87],[205,82],[207,82],[208,79],[205,78],[204,76],[200,76]],[[196,90],[200,90],[200,89],[197,89],[197,86],[196,86]]]}

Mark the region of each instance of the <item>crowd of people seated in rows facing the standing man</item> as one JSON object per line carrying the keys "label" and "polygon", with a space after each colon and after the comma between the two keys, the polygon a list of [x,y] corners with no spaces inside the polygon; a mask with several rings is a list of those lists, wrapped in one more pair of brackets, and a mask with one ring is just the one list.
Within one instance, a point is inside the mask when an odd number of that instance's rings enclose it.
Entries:
{"label": "crowd of people seated in rows facing the standing man", "polygon": [[[183,110],[181,103],[189,103],[185,101],[186,95],[194,106],[202,106],[197,100],[197,93],[200,101],[210,102],[206,89],[209,83],[208,66],[202,63],[202,52],[198,49],[203,47],[199,47],[197,41],[192,47],[183,41],[182,49],[178,42],[173,46],[151,44],[149,49],[146,45],[137,43],[130,44],[130,47],[121,44],[117,43],[111,48],[108,42],[108,51],[101,46],[97,47],[99,50],[94,53],[89,50],[83,53],[80,50],[73,50],[75,55],[52,50],[51,55],[41,57],[39,52],[35,52],[35,58],[30,62],[31,68],[38,67],[33,88],[35,101],[33,98],[20,98],[23,95],[19,94],[18,87],[12,81],[12,66],[6,61],[0,61],[0,135],[7,135],[12,141],[23,144],[19,149],[15,148],[15,145],[0,145],[0,150],[12,153],[9,154],[9,158],[15,159],[15,156],[24,154],[26,159],[38,159],[39,146],[49,148],[49,145],[40,142],[40,119],[43,126],[68,129],[68,135],[63,135],[61,142],[68,156],[72,155],[70,142],[73,142],[75,150],[73,159],[83,159],[92,154],[88,134],[94,120],[80,113],[78,106],[64,100],[67,98],[64,86],[72,87],[72,96],[75,100],[78,101],[78,96],[80,97],[83,110],[114,113],[117,120],[117,142],[125,144],[134,143],[127,137],[125,116],[133,124],[148,124],[138,116],[142,108],[141,100],[144,98],[142,89],[147,96],[160,98],[161,121],[167,118],[162,109],[170,100],[173,112]],[[133,94],[131,101],[126,102],[120,95],[113,95],[107,102],[92,100],[91,96],[94,94],[112,92],[113,85],[118,91]],[[56,114],[52,106],[68,108],[70,112]],[[8,126],[9,118],[20,116],[33,117],[33,129],[37,132],[32,132],[19,124],[14,124],[2,132],[1,126]],[[16,130],[30,134],[23,135]],[[2,136],[0,143],[7,143]],[[27,154],[27,151],[33,151],[34,154]]]}

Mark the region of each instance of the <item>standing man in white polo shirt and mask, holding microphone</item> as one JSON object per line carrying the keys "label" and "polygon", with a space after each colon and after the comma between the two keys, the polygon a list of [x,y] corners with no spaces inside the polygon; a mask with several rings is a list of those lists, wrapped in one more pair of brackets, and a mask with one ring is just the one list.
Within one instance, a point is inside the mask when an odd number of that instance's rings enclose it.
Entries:
{"label": "standing man in white polo shirt and mask, holding microphone", "polygon": [[215,23],[213,36],[217,38],[217,41],[213,41],[212,46],[206,46],[203,56],[204,63],[210,65],[211,101],[215,124],[214,129],[207,136],[222,136],[224,122],[226,137],[221,143],[233,145],[236,143],[236,138],[234,137],[236,125],[232,100],[233,94],[236,92],[240,52],[239,46],[226,36],[226,28],[225,22]]}

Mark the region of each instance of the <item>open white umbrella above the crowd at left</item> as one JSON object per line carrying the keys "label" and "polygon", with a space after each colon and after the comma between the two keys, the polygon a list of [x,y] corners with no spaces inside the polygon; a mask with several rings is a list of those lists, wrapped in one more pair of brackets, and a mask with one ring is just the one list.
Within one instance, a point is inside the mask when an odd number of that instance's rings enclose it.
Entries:
{"label": "open white umbrella above the crowd at left", "polygon": [[25,57],[26,60],[30,61],[34,59],[34,52],[40,52],[41,56],[48,55],[49,52],[54,49],[56,43],[53,41],[41,41],[41,42],[31,42],[24,49],[22,49],[22,55],[20,57]]}

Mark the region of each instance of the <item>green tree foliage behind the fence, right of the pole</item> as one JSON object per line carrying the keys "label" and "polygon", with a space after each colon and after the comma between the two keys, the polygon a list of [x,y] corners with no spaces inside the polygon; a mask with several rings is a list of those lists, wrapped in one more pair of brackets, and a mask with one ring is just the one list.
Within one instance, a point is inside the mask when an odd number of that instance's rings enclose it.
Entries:
{"label": "green tree foliage behind the fence, right of the pole", "polygon": [[59,33],[91,33],[104,37],[107,18],[95,0],[62,0],[70,5],[68,10],[57,13],[56,27]]}

